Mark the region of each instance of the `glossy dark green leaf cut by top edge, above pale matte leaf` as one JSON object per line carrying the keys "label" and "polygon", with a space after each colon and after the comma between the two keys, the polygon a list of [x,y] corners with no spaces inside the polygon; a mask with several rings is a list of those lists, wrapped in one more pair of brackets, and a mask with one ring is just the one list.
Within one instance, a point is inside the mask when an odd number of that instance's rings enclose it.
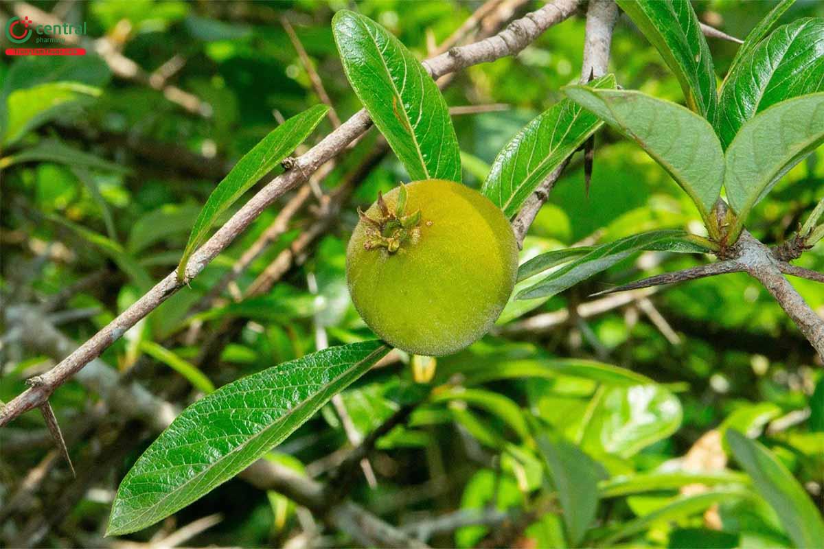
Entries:
{"label": "glossy dark green leaf cut by top edge, above pale matte leaf", "polygon": [[709,46],[689,0],[616,0],[670,67],[690,109],[710,122],[718,98]]}

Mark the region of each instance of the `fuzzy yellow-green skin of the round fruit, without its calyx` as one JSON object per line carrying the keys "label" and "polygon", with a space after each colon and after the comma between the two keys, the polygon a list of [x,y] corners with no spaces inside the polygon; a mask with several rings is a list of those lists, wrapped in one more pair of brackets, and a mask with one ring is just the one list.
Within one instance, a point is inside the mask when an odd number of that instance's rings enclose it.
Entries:
{"label": "fuzzy yellow-green skin of the round fruit, without its calyx", "polygon": [[[346,251],[349,294],[369,328],[394,347],[426,356],[460,351],[489,332],[517,277],[517,244],[503,212],[452,181],[406,185],[405,212],[421,212],[419,236],[394,254],[366,249],[360,221]],[[384,195],[394,212],[400,187]],[[380,217],[377,202],[366,215]]]}

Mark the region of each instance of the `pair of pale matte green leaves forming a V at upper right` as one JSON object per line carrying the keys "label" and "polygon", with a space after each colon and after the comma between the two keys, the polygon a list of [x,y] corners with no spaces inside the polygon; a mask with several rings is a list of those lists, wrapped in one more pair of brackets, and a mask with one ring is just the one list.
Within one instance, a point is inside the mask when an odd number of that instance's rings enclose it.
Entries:
{"label": "pair of pale matte green leaves forming a V at upper right", "polygon": [[[824,141],[824,93],[803,95],[744,123],[726,155],[706,119],[639,91],[565,88],[570,98],[638,142],[672,175],[698,207],[710,234],[709,213],[722,185],[737,213],[737,230],[782,175]],[[733,230],[733,235],[737,235]]]}

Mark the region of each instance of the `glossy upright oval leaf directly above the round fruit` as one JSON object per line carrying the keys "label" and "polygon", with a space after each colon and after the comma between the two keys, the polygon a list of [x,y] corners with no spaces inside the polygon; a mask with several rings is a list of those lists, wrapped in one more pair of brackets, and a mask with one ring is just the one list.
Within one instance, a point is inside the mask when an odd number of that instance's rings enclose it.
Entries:
{"label": "glossy upright oval leaf directly above the round fruit", "polygon": [[349,84],[410,177],[460,182],[455,128],[426,69],[368,17],[341,10],[332,30]]}

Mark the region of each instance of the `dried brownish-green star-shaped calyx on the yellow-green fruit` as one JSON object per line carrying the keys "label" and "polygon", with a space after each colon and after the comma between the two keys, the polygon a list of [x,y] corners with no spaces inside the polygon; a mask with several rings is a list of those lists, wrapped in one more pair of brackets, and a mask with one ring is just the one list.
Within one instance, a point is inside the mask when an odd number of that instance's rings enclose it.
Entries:
{"label": "dried brownish-green star-shaped calyx on the yellow-green fruit", "polygon": [[377,207],[380,217],[373,219],[358,207],[358,216],[365,223],[367,237],[363,243],[365,249],[385,248],[395,254],[402,245],[414,243],[420,236],[420,210],[406,215],[406,186],[400,184],[398,203],[395,212],[391,212],[383,200],[383,193],[377,193]]}

